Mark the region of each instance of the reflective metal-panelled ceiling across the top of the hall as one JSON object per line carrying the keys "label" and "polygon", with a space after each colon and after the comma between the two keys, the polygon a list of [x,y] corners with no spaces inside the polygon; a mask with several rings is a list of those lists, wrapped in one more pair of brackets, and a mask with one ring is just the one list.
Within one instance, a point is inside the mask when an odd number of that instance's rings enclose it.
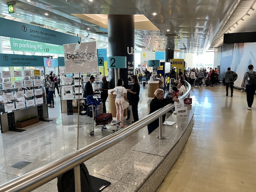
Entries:
{"label": "reflective metal-panelled ceiling across the top of the hall", "polygon": [[[0,14],[13,17],[12,19],[23,19],[26,23],[41,23],[59,31],[84,36],[90,33],[87,38],[90,41],[107,41],[106,35],[95,34],[105,32],[106,29],[71,14],[145,15],[159,29],[140,30],[138,33],[135,31],[136,46],[147,49],[186,48],[189,53],[203,53],[210,45],[220,46],[215,42],[220,42],[219,38],[230,28],[229,33],[256,30],[256,11],[254,14],[250,9],[255,6],[255,0],[71,0],[70,3],[65,0],[33,0],[30,3],[26,0],[15,1],[17,13],[10,15],[7,0],[0,0]],[[45,12],[49,15],[45,16]],[[158,14],[153,16],[153,12]],[[251,16],[246,16],[246,12]],[[241,18],[245,21],[240,20]],[[176,33],[180,36],[176,36]]]}

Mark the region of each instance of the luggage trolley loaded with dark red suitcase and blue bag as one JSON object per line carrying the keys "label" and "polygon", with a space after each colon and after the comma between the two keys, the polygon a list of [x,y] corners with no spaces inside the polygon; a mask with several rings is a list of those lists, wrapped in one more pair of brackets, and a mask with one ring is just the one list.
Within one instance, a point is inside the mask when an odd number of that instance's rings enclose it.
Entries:
{"label": "luggage trolley loaded with dark red suitcase and blue bag", "polygon": [[101,131],[108,129],[113,132],[121,129],[121,121],[113,121],[111,113],[102,113],[103,103],[97,95],[87,96],[86,102],[93,115],[93,130],[90,132],[91,136],[94,135],[94,129],[101,129]]}

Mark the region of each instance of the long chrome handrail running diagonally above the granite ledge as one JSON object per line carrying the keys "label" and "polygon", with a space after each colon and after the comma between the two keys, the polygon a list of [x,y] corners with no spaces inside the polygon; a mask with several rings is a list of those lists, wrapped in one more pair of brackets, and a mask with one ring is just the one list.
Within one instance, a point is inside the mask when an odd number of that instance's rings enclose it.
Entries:
{"label": "long chrome handrail running diagonally above the granite ledge", "polygon": [[[188,90],[179,99],[186,98],[191,90],[191,86],[188,82]],[[29,173],[26,173],[20,177],[17,177],[11,181],[8,181],[0,186],[0,192],[29,192],[46,184],[61,174],[67,172],[70,169],[78,166],[80,163],[87,161],[88,159],[100,154],[106,149],[114,146],[120,141],[124,140],[133,133],[144,128],[146,125],[157,120],[163,114],[167,113],[170,109],[174,108],[174,104],[169,104],[159,109],[146,117],[142,118],[135,123],[128,125],[126,128],[113,133],[105,138],[102,138],[94,143],[89,144],[80,150],[74,151],[64,157],[61,157],[47,165],[39,167]]]}

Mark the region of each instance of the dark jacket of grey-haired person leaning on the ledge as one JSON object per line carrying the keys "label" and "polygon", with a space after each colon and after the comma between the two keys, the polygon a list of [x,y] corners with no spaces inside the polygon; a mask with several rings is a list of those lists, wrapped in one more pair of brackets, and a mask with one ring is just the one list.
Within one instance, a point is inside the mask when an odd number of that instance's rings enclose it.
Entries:
{"label": "dark jacket of grey-haired person leaning on the ledge", "polygon": [[[161,101],[158,100],[157,97],[152,99],[150,103],[150,113],[155,112],[158,109],[163,108],[164,106],[168,105],[169,103],[174,103],[172,99],[162,99]],[[163,121],[165,121],[165,114],[162,116]],[[153,132],[159,126],[159,119],[153,121],[152,123],[148,124],[148,134]]]}

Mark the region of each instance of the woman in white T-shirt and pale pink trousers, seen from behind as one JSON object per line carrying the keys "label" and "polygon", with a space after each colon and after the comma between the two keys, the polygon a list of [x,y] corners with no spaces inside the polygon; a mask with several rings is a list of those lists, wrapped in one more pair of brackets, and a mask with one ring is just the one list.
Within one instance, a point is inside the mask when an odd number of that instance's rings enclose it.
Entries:
{"label": "woman in white T-shirt and pale pink trousers, seen from behind", "polygon": [[[117,86],[110,92],[113,99],[115,99],[116,119],[117,119],[117,121],[118,120],[121,121],[121,124],[120,124],[121,128],[125,127],[125,125],[123,123],[123,121],[124,121],[124,110],[122,108],[121,98],[124,97],[124,99],[126,101],[128,101],[127,96],[126,96],[127,90],[123,86],[124,86],[123,79],[118,79]],[[114,92],[116,92],[116,97],[114,97],[114,95],[113,95]]]}

